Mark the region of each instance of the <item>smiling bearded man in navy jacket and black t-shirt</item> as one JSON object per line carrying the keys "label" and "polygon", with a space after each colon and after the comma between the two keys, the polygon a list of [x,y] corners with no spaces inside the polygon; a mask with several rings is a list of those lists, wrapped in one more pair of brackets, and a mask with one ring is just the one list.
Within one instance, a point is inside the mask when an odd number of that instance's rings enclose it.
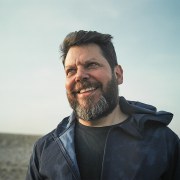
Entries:
{"label": "smiling bearded man in navy jacket and black t-shirt", "polygon": [[39,139],[27,180],[179,180],[173,115],[119,97],[123,70],[112,36],[72,32],[61,50],[73,113]]}

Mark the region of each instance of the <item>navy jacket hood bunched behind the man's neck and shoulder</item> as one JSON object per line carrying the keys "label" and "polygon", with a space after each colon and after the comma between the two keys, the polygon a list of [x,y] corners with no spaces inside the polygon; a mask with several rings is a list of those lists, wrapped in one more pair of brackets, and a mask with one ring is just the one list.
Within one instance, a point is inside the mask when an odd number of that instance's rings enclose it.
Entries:
{"label": "navy jacket hood bunched behind the man's neck and shoulder", "polygon": [[145,123],[153,121],[167,126],[173,114],[166,111],[157,111],[156,107],[138,101],[128,101],[123,96],[119,98],[120,108],[123,113],[134,116],[135,123],[143,128]]}

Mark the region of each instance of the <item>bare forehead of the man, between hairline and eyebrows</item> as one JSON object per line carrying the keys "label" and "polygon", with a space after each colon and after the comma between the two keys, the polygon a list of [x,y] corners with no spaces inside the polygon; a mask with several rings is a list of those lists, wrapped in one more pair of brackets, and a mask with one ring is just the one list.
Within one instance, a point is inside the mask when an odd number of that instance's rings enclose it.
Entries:
{"label": "bare forehead of the man, between hairline and eyebrows", "polygon": [[69,49],[65,59],[65,67],[68,65],[85,63],[89,60],[108,63],[98,45],[87,44],[83,46],[73,46]]}

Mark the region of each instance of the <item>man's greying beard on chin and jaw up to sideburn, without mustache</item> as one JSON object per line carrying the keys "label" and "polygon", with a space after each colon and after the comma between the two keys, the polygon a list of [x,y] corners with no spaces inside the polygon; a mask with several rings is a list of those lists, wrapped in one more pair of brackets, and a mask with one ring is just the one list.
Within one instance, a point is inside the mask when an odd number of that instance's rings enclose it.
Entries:
{"label": "man's greying beard on chin and jaw up to sideburn, without mustache", "polygon": [[93,98],[87,98],[81,104],[68,97],[70,106],[74,110],[77,118],[95,121],[110,114],[118,104],[118,84],[115,76],[112,75],[107,89],[102,93],[99,101],[95,104]]}

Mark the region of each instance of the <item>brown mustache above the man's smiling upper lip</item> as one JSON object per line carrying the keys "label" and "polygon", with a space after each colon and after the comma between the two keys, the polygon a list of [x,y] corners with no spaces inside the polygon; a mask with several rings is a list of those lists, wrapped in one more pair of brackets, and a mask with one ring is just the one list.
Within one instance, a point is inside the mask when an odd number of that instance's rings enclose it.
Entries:
{"label": "brown mustache above the man's smiling upper lip", "polygon": [[68,91],[67,94],[77,94],[82,89],[86,88],[98,88],[102,87],[101,83],[99,82],[89,82],[89,81],[81,81],[74,84],[72,90]]}

